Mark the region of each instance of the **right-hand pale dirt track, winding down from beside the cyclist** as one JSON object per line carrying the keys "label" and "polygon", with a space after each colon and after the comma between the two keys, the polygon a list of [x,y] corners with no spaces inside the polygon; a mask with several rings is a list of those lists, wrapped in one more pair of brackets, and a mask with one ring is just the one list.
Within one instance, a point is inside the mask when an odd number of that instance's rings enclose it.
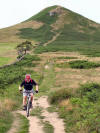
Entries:
{"label": "right-hand pale dirt track, winding down from beside the cyclist", "polygon": [[50,107],[47,97],[42,96],[35,102],[35,107],[39,106],[43,108],[42,115],[44,116],[44,121],[49,121],[50,124],[54,127],[54,133],[65,133],[64,131],[64,122],[59,118],[57,112],[50,113],[47,111],[47,108]]}

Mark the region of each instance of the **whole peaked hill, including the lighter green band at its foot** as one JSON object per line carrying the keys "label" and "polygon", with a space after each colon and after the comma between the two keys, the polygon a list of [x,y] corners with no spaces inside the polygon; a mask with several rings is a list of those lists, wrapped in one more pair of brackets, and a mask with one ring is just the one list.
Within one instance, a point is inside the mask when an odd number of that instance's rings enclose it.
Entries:
{"label": "whole peaked hill, including the lighter green band at its foot", "polygon": [[[50,16],[50,12],[54,15]],[[46,8],[20,24],[0,29],[1,43],[30,40],[40,44],[36,53],[78,51],[88,56],[100,56],[99,36],[99,24],[60,6]]]}

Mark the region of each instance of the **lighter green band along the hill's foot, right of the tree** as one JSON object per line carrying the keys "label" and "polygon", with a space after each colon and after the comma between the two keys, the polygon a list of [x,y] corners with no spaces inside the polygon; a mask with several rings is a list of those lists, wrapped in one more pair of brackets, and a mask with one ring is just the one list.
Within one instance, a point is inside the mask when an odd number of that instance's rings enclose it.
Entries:
{"label": "lighter green band along the hill's foot, right of the tree", "polygon": [[86,42],[86,41],[63,41],[56,40],[47,46],[38,46],[35,53],[44,52],[79,52],[90,57],[100,57],[100,42]]}

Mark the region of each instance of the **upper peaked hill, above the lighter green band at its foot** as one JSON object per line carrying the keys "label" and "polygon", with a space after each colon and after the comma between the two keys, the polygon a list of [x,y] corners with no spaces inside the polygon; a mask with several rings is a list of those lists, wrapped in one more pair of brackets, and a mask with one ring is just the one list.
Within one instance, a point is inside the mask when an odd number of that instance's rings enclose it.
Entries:
{"label": "upper peaked hill, above the lighter green band at its foot", "polygon": [[100,25],[61,6],[42,10],[17,25],[0,29],[0,42],[46,43],[59,33],[65,41],[100,41]]}

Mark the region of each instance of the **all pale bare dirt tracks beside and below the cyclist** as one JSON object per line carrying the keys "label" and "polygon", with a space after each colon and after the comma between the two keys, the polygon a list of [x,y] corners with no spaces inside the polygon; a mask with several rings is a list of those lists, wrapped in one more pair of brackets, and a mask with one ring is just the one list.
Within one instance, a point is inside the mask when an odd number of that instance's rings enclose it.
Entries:
{"label": "all pale bare dirt tracks beside and below the cyclist", "polygon": [[[42,107],[43,113],[42,116],[44,116],[43,121],[49,121],[50,124],[54,127],[54,133],[65,133],[64,131],[64,123],[63,120],[58,117],[58,114],[56,112],[49,113],[47,111],[47,108],[50,107],[47,97],[42,96],[39,99],[34,101],[34,108],[36,107]],[[17,113],[20,113],[21,115],[26,116],[25,111],[17,111]],[[30,116],[28,118],[29,120],[29,133],[44,133],[43,131],[43,125],[41,125],[41,120],[36,116]],[[12,133],[12,132],[9,132]]]}

